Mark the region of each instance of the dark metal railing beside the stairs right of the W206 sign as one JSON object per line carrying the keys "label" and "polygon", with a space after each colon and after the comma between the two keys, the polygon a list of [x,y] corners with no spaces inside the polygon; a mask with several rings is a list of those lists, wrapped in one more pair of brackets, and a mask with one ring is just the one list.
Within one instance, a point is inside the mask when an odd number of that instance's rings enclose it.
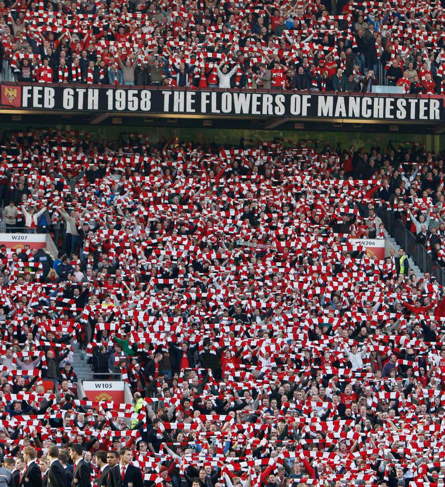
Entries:
{"label": "dark metal railing beside the stairs right of the W206 sign", "polygon": [[414,260],[423,272],[429,272],[432,276],[435,276],[437,284],[444,286],[445,269],[433,261],[431,254],[428,254],[425,246],[416,240],[416,235],[405,227],[400,218],[394,216],[394,212],[387,208],[381,208],[378,213],[388,232],[403,247],[406,254]]}

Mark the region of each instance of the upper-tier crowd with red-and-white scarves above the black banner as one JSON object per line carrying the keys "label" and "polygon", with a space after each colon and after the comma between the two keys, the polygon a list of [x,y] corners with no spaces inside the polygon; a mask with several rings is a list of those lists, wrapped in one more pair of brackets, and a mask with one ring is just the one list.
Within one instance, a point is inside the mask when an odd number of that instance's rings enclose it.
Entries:
{"label": "upper-tier crowd with red-and-white scarves above the black banner", "polygon": [[439,0],[2,0],[0,54],[8,81],[443,94],[442,9]]}

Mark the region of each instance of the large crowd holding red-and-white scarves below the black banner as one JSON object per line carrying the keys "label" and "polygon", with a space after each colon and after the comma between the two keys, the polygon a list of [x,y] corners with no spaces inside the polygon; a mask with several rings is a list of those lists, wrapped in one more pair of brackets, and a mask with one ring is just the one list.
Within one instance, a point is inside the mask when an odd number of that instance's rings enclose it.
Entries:
{"label": "large crowd holding red-and-white scarves below the black banner", "polygon": [[[49,129],[1,150],[7,231],[60,249],[0,246],[10,487],[443,486],[442,290],[356,240],[383,209],[442,259],[441,157]],[[76,342],[134,405],[78,397]]]}

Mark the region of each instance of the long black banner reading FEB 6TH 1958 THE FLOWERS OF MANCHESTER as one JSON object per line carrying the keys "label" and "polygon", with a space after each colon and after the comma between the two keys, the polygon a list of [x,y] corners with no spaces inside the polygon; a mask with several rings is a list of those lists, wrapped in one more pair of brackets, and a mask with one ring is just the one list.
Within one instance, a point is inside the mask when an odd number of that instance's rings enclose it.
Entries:
{"label": "long black banner reading FEB 6TH 1958 THE FLOWERS OF MANCHESTER", "polygon": [[2,108],[204,116],[440,122],[443,98],[2,84]]}

